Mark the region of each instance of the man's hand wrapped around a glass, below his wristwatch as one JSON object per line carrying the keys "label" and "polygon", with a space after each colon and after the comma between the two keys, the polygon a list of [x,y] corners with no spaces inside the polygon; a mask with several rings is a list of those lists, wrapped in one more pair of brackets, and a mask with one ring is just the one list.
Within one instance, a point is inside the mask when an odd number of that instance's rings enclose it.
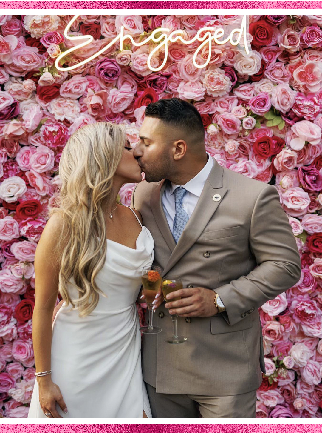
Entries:
{"label": "man's hand wrapped around a glass, below his wristwatch", "polygon": [[[179,301],[171,299],[181,296]],[[218,313],[214,304],[214,291],[203,287],[192,289],[180,289],[166,295],[165,305],[170,314],[178,314],[180,317],[211,317]]]}

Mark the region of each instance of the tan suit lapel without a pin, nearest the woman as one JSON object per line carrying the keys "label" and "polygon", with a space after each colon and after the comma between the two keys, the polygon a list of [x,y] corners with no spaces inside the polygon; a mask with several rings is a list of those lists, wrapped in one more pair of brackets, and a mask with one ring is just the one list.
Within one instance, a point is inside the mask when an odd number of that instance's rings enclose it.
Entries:
{"label": "tan suit lapel without a pin, nearest the woman", "polygon": [[166,215],[163,210],[162,206],[162,196],[163,192],[166,188],[166,179],[163,179],[163,181],[157,183],[154,185],[152,194],[151,194],[151,201],[150,206],[152,209],[152,213],[154,216],[154,219],[159,227],[159,230],[166,241],[167,245],[169,246],[170,251],[172,252],[175,248],[175,240],[172,236],[168,221],[166,219]]}

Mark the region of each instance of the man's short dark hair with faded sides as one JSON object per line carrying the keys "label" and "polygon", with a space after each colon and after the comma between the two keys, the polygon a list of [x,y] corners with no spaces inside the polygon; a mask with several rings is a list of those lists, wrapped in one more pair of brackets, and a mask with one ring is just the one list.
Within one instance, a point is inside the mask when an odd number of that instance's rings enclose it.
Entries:
{"label": "man's short dark hair with faded sides", "polygon": [[180,98],[159,99],[151,102],[145,109],[145,115],[156,117],[163,122],[204,137],[204,124],[200,113],[190,102]]}

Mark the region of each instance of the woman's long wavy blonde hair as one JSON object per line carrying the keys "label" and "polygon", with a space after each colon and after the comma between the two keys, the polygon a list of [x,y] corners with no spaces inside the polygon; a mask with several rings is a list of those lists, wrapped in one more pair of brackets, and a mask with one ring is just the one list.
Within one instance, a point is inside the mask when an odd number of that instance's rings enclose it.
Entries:
{"label": "woman's long wavy blonde hair", "polygon": [[[56,245],[61,254],[58,290],[80,317],[91,313],[103,294],[95,282],[106,254],[103,205],[110,198],[125,141],[123,125],[92,123],[77,129],[61,154],[58,207],[51,207],[49,216],[58,213],[62,223]],[[67,284],[77,287],[78,299],[71,299]]]}

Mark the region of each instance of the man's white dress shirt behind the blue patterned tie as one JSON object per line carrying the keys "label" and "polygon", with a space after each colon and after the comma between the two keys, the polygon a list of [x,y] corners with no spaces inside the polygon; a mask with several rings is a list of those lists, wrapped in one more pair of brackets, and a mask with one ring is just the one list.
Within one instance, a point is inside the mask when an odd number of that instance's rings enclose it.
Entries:
{"label": "man's white dress shirt behind the blue patterned tie", "polygon": [[[184,185],[176,185],[171,182],[167,184],[163,196],[162,196],[162,206],[164,213],[166,214],[166,220],[168,221],[172,236],[173,236],[173,221],[175,219],[175,188],[184,187],[188,192],[185,194],[182,200],[182,207],[188,213],[189,218],[191,217],[194,208],[201,196],[201,192],[204,188],[204,184],[209,176],[209,173],[214,165],[214,160],[210,153],[206,152],[208,155],[208,161],[204,165],[198,174],[194,178],[190,179]],[[218,296],[219,298],[219,296]],[[219,298],[220,299],[220,298]],[[221,301],[221,299],[220,299]]]}

